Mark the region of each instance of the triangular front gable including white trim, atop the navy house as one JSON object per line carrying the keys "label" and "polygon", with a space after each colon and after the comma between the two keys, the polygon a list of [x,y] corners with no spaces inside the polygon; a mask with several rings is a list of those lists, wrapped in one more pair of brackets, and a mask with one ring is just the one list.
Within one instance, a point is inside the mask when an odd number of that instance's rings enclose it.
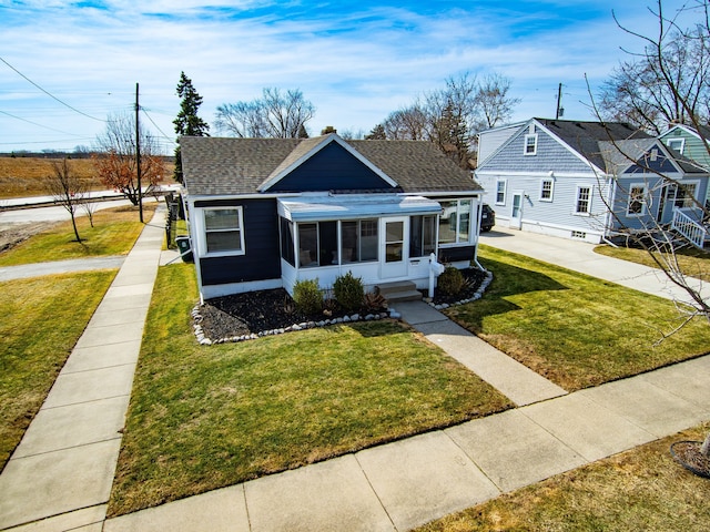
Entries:
{"label": "triangular front gable including white trim, atop the navy house", "polygon": [[398,184],[337,134],[308,139],[261,184],[258,192],[387,191]]}

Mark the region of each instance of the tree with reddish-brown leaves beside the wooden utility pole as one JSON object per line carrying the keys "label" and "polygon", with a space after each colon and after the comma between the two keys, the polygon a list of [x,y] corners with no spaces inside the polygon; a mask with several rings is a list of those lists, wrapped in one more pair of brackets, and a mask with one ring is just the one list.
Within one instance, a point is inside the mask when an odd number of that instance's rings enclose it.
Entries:
{"label": "tree with reddish-brown leaves beside the wooden utility pole", "polygon": [[[140,142],[141,194],[150,193],[165,176],[165,165],[155,139],[139,125],[131,114],[109,117],[106,129],[97,137],[94,166],[101,181],[121,192],[133,204],[139,204],[136,141]],[[148,186],[146,186],[148,185]]]}

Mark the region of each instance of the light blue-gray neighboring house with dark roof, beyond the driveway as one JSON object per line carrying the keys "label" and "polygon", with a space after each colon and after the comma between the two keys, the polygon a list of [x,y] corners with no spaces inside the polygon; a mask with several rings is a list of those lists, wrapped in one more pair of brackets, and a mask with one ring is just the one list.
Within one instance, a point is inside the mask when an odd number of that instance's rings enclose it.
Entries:
{"label": "light blue-gray neighboring house with dark roof, beyond the driveway", "polygon": [[706,197],[709,178],[628,124],[546,119],[518,126],[475,175],[498,226],[590,243],[673,223]]}

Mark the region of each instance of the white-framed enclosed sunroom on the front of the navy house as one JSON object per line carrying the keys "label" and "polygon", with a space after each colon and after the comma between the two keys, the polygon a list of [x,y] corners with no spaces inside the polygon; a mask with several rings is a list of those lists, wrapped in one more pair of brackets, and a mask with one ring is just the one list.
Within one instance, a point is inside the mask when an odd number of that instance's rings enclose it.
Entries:
{"label": "white-framed enclosed sunroom on the front of the navy house", "polygon": [[284,288],[293,293],[296,282],[314,278],[322,287],[329,287],[347,272],[361,277],[368,288],[405,279],[425,288],[429,257],[438,255],[439,242],[460,248],[457,253],[464,252],[468,262],[474,258],[474,203],[471,198],[439,203],[404,194],[280,198]]}

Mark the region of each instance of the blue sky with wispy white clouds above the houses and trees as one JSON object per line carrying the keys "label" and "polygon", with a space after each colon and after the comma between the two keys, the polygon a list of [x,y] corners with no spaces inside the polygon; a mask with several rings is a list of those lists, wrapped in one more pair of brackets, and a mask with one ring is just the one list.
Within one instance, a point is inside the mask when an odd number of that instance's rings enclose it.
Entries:
{"label": "blue sky with wispy white clouds above the houses and trees", "polygon": [[140,83],[141,120],[164,134],[170,153],[181,71],[211,124],[217,105],[276,86],[300,89],[314,103],[312,134],[326,125],[368,132],[463,72],[510,79],[521,100],[514,120],[554,116],[558,83],[565,117],[590,120],[585,74],[596,92],[628,58],[620,47],[640,47],[611,10],[652,33],[649,3],[0,0],[0,152],[91,146],[109,114],[133,109]]}

